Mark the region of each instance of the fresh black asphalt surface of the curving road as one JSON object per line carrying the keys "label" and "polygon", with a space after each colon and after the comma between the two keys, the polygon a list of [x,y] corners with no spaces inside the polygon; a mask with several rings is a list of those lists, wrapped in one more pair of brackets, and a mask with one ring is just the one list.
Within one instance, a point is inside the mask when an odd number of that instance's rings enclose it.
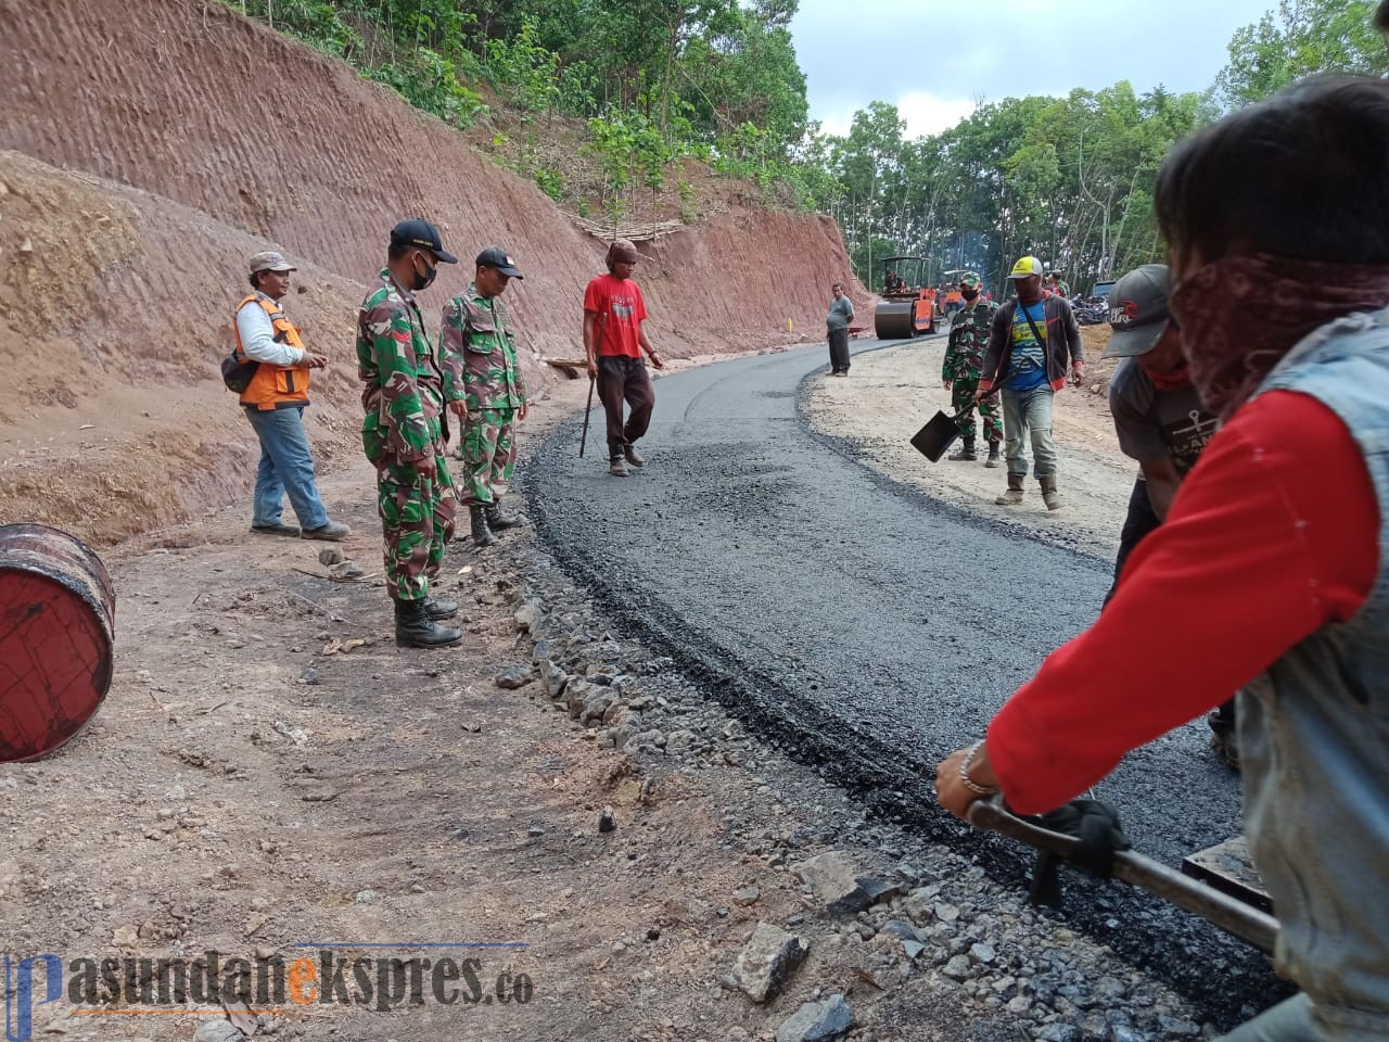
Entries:
{"label": "fresh black asphalt surface of the curving road", "polygon": [[[575,420],[526,468],[542,536],[632,636],[764,736],[885,817],[1021,878],[1031,859],[946,816],[925,779],[1093,621],[1111,563],[897,485],[858,463],[851,445],[811,432],[800,388],[826,372],[821,345],[657,381],[639,443],[647,465],[626,479],[607,474],[594,406],[585,460]],[[1122,711],[1126,677],[1111,679]],[[1188,725],[1099,786],[1136,847],[1170,864],[1239,831],[1238,779],[1207,738],[1203,722]],[[1211,964],[1193,964],[1197,952],[1225,971],[1247,964],[1267,985],[1249,949],[1132,891],[1103,888],[1093,907],[1081,903],[1072,920],[1136,961],[1151,953],[1147,934],[1168,934],[1161,975],[1182,991],[1229,998],[1203,981]]]}

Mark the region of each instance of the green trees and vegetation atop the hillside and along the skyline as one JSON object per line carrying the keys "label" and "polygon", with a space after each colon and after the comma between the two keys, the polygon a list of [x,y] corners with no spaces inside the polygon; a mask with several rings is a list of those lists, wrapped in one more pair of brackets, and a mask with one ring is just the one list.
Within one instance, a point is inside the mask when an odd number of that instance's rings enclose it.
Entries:
{"label": "green trees and vegetation atop the hillside and along the skyline", "polygon": [[[832,215],[870,285],[874,258],[895,253],[1000,283],[1032,251],[1078,289],[1157,260],[1151,193],[1176,140],[1311,72],[1389,69],[1372,0],[1279,0],[1200,93],[1118,82],[1007,97],[918,138],[872,101],[839,136],[807,121],[788,28],[799,0],[224,1],[478,126],[499,161],[581,215],[693,220],[697,160],[763,201]],[[557,119],[581,121],[568,154],[547,146]]]}

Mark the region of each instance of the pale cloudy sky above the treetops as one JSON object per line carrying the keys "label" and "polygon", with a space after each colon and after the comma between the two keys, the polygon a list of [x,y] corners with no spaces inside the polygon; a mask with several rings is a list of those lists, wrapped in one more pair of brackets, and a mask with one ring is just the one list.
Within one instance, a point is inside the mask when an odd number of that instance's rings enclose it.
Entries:
{"label": "pale cloudy sky above the treetops", "polygon": [[800,0],[790,24],[810,118],[845,133],[890,101],[907,136],[953,126],[982,99],[1099,90],[1126,79],[1204,90],[1225,44],[1278,0]]}

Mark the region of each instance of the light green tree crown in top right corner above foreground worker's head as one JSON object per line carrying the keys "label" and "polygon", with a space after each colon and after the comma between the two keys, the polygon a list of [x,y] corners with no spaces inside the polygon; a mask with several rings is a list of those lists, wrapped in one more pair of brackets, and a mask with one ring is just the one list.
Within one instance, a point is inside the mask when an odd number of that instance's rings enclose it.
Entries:
{"label": "light green tree crown in top right corner above foreground worker's head", "polygon": [[1239,108],[1314,72],[1389,71],[1374,8],[1374,0],[1281,0],[1276,13],[1235,32],[1217,81],[1221,99]]}

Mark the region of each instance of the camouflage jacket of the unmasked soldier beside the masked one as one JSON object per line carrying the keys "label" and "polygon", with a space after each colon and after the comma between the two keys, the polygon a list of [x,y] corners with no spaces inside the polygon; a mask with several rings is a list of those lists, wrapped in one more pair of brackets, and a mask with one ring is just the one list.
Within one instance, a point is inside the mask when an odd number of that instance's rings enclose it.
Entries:
{"label": "camouflage jacket of the unmasked soldier beside the masked one", "polygon": [[464,399],[469,413],[521,408],[525,378],[517,363],[517,338],[506,306],[468,286],[443,306],[443,395]]}

